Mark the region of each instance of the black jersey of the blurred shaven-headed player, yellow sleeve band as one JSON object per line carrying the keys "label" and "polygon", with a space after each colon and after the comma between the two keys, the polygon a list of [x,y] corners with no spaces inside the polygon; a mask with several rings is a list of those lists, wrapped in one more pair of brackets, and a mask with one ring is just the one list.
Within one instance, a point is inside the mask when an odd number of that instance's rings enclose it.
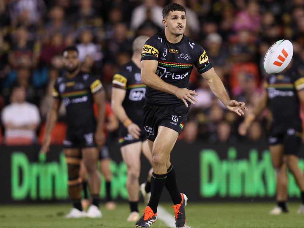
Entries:
{"label": "black jersey of the blurred shaven-headed player, yellow sleeve band", "polygon": [[126,90],[122,105],[127,116],[135,123],[142,121],[146,85],[141,82],[140,68],[132,60],[123,64],[114,74],[112,85]]}

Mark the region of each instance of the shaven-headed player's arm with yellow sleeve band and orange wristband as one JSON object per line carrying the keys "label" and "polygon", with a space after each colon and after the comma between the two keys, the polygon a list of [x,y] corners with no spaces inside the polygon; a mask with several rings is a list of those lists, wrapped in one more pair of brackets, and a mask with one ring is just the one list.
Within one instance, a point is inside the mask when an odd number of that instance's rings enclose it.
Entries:
{"label": "shaven-headed player's arm with yellow sleeve band and orange wristband", "polygon": [[139,139],[141,131],[140,127],[136,123],[133,123],[132,120],[130,120],[126,114],[126,110],[123,108],[123,100],[126,97],[127,79],[121,74],[115,74],[112,83],[112,110],[120,122],[123,123],[123,125],[126,127],[129,134],[131,134],[134,139]]}

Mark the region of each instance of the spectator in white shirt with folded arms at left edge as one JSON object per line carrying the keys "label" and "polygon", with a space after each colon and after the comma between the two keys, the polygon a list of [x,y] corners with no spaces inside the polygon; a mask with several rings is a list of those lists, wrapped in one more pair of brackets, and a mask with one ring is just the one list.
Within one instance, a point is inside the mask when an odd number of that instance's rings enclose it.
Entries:
{"label": "spectator in white shirt with folded arms at left edge", "polygon": [[7,145],[31,144],[36,140],[36,129],[40,123],[39,110],[25,99],[25,89],[15,87],[12,91],[11,104],[5,106],[2,111]]}

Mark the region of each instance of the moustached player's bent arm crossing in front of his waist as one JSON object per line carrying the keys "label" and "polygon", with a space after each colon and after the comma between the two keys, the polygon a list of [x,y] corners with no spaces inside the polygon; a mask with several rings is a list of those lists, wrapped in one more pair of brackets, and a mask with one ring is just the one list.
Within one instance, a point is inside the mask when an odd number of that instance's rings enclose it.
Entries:
{"label": "moustached player's bent arm crossing in front of his waist", "polygon": [[188,107],[187,100],[192,104],[194,104],[194,101],[198,102],[198,100],[192,96],[199,96],[195,90],[178,88],[163,81],[157,74],[155,74],[157,70],[157,64],[158,62],[156,60],[141,60],[141,81],[143,84],[158,91],[170,93],[177,96],[177,98],[181,99],[185,103],[186,107]]}

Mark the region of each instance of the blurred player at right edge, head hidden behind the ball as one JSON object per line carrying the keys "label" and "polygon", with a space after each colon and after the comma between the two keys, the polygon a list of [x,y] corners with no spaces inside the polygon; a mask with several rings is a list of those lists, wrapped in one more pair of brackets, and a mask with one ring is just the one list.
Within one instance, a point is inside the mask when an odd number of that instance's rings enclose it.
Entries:
{"label": "blurred player at right edge, head hidden behind the ball", "polygon": [[273,116],[269,136],[269,150],[273,167],[277,172],[277,206],[271,214],[288,212],[286,166],[295,177],[301,190],[302,205],[298,213],[304,213],[304,175],[298,166],[298,154],[303,138],[300,107],[304,107],[304,77],[293,61],[282,72],[269,75],[265,91],[258,106],[251,110],[239,127],[240,135],[246,135],[250,124],[267,106]]}

